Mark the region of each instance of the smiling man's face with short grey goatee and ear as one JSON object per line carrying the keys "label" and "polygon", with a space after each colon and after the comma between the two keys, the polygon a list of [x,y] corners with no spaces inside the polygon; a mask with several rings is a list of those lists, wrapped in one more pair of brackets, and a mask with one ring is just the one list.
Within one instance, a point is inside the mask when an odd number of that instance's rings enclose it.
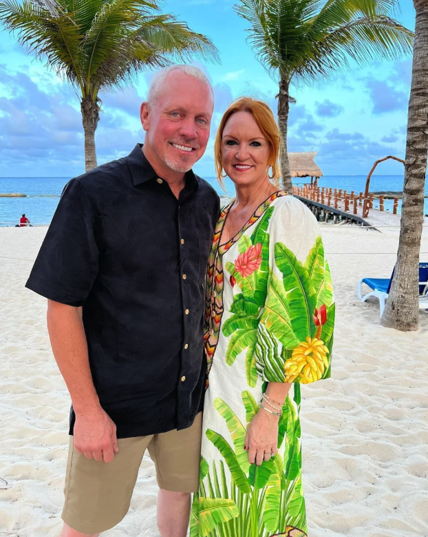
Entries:
{"label": "smiling man's face with short grey goatee and ear", "polygon": [[168,74],[153,106],[141,105],[145,154],[154,168],[192,168],[206,150],[213,107],[208,85],[184,72]]}

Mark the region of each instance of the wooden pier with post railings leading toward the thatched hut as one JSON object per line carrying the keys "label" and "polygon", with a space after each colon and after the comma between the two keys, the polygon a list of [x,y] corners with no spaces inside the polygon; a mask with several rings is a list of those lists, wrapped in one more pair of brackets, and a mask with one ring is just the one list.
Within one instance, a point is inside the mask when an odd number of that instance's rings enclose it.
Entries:
{"label": "wooden pier with post railings leading toward the thatched hut", "polygon": [[[398,197],[394,198],[392,212],[385,210],[385,196],[378,197],[374,207],[374,194],[303,185],[293,187],[293,194],[308,205],[321,222],[352,223],[368,227],[399,226]],[[376,198],[377,200],[377,198]]]}

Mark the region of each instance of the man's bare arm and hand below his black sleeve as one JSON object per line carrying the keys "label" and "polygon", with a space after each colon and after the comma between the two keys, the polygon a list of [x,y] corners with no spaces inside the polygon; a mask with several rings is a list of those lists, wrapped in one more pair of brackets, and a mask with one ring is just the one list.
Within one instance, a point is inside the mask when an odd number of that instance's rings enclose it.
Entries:
{"label": "man's bare arm and hand below his black sleeve", "polygon": [[101,407],[92,381],[82,308],[48,300],[47,329],[76,414],[74,447],[86,458],[109,463],[118,452],[116,425]]}

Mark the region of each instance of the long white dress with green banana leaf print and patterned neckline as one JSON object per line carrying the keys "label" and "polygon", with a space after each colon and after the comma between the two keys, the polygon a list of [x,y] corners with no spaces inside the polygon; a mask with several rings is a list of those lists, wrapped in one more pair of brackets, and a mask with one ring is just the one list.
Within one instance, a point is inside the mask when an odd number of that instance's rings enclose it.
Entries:
{"label": "long white dress with green banana leaf print and patterned neckline", "polygon": [[[208,388],[199,492],[191,537],[305,537],[300,385],[330,377],[334,298],[319,227],[279,191],[208,261],[205,350]],[[278,453],[248,462],[246,427],[269,382],[292,383],[279,418]]]}

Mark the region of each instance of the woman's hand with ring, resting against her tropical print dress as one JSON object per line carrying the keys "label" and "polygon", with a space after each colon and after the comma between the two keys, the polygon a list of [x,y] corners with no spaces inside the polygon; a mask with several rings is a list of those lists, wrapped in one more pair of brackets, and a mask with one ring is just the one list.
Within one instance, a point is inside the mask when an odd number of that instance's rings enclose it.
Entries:
{"label": "woman's hand with ring, resting against her tropical print dress", "polygon": [[279,416],[266,412],[263,408],[248,425],[244,449],[248,451],[250,464],[260,466],[278,451]]}

